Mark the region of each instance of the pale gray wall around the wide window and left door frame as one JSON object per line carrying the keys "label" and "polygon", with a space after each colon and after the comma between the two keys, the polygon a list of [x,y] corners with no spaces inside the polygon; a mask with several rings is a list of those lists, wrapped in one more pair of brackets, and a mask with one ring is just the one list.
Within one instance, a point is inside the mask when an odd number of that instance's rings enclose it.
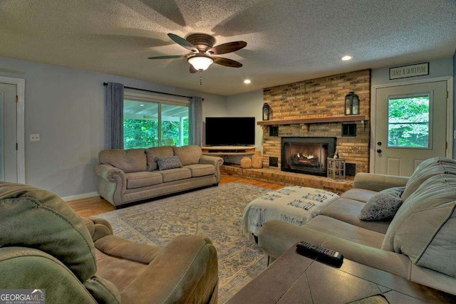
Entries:
{"label": "pale gray wall around the wide window and left door frame", "polygon": [[[204,116],[225,115],[226,97],[115,75],[0,57],[0,75],[26,80],[26,183],[60,196],[96,192],[103,150],[103,82],[204,98]],[[30,142],[39,134],[39,142]]]}

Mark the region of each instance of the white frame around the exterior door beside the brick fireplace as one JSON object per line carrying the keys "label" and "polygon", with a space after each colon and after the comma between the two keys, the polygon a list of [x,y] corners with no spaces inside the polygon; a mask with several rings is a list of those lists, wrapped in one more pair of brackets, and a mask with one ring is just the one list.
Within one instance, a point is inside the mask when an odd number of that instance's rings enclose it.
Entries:
{"label": "white frame around the exterior door beside the brick fireplace", "polygon": [[374,172],[375,168],[375,127],[376,127],[376,118],[377,114],[377,89],[380,88],[389,88],[397,87],[400,85],[416,85],[420,83],[435,83],[437,81],[446,81],[448,98],[447,98],[447,149],[445,156],[452,158],[453,155],[453,80],[452,76],[437,77],[437,78],[427,78],[423,80],[410,80],[400,83],[387,83],[384,85],[373,85],[371,88],[371,145],[369,147],[370,162],[369,162],[369,172]]}

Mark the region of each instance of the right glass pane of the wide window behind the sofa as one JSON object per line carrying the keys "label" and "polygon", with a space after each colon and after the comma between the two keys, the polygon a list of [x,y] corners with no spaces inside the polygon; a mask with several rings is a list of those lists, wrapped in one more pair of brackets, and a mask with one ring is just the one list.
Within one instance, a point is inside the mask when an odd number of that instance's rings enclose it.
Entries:
{"label": "right glass pane of the wide window behind the sofa", "polygon": [[188,107],[162,104],[162,146],[188,145]]}

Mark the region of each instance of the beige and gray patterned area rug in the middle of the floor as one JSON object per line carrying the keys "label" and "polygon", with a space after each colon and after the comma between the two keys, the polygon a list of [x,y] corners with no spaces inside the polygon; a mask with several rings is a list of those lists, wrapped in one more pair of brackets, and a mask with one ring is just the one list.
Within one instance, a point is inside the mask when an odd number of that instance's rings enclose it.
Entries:
{"label": "beige and gray patterned area rug in the middle of the floor", "polygon": [[108,220],[115,235],[140,243],[165,246],[180,234],[211,239],[219,259],[219,303],[225,303],[266,268],[267,257],[242,233],[242,212],[267,192],[271,189],[231,182],[97,217]]}

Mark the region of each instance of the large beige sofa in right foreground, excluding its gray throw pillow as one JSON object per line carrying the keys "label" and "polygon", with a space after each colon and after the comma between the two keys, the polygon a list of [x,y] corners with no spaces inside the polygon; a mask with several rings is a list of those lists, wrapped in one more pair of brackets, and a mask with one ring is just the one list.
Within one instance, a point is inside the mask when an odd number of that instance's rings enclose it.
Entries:
{"label": "large beige sofa in right foreground, excluding its gray throw pillow", "polygon": [[[455,160],[445,158],[425,160],[410,179],[357,174],[353,189],[304,226],[265,223],[259,246],[274,261],[294,243],[308,241],[352,261],[456,294],[455,174]],[[393,219],[360,220],[366,202],[392,187],[405,187]]]}

